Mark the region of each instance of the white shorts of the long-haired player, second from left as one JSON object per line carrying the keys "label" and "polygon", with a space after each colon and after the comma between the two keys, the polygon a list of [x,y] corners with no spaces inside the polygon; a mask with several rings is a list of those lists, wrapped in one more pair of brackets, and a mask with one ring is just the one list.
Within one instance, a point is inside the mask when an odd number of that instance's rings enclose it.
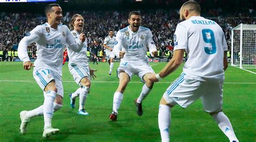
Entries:
{"label": "white shorts of the long-haired player, second from left", "polygon": [[71,63],[69,65],[69,72],[73,76],[73,79],[75,80],[75,82],[77,84],[79,84],[79,86],[81,86],[80,81],[84,77],[88,77],[88,79],[91,80],[90,79],[89,65],[81,66],[81,65],[77,65],[76,63]]}

